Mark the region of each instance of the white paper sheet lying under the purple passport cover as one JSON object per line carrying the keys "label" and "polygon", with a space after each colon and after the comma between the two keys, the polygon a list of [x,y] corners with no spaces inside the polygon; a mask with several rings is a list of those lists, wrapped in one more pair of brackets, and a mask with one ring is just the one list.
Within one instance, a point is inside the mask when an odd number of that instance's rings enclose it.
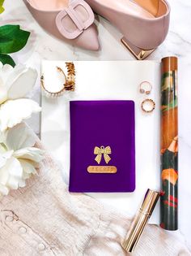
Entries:
{"label": "white paper sheet lying under the purple passport cover", "polygon": [[[68,184],[70,173],[70,100],[134,100],[136,110],[136,190],[134,193],[91,193],[92,197],[133,216],[142,203],[146,189],[159,190],[159,115],[160,63],[154,61],[85,61],[74,62],[76,90],[61,98],[42,96],[41,139],[63,170]],[[56,66],[66,70],[65,62],[43,61],[45,85],[59,87],[61,77]],[[153,86],[146,97],[139,84],[147,80]],[[156,103],[152,114],[141,110],[141,102],[152,98]],[[78,129],[78,127],[77,127]],[[159,204],[150,223],[159,223]]]}

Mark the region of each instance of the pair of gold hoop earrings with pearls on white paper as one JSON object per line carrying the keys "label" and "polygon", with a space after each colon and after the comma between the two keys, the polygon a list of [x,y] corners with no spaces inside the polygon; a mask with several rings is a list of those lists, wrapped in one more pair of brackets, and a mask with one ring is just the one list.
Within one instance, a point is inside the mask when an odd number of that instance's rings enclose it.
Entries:
{"label": "pair of gold hoop earrings with pearls on white paper", "polygon": [[61,67],[56,67],[57,68],[57,72],[62,73],[63,76],[65,76],[65,84],[63,85],[63,88],[57,92],[50,92],[48,89],[45,88],[45,82],[44,82],[44,76],[42,75],[40,77],[40,82],[41,82],[41,86],[45,91],[45,94],[48,97],[59,97],[62,96],[62,94],[65,91],[74,91],[75,89],[75,67],[74,67],[74,63],[66,63],[66,68],[67,68],[67,76],[65,74],[65,72],[62,70]]}

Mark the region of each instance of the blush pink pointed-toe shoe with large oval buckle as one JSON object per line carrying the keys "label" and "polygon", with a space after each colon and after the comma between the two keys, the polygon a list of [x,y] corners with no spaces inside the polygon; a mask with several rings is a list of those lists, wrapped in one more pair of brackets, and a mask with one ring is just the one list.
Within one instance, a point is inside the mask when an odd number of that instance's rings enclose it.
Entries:
{"label": "blush pink pointed-toe shoe with large oval buckle", "polygon": [[99,50],[100,42],[91,7],[83,0],[23,0],[47,32],[72,46]]}

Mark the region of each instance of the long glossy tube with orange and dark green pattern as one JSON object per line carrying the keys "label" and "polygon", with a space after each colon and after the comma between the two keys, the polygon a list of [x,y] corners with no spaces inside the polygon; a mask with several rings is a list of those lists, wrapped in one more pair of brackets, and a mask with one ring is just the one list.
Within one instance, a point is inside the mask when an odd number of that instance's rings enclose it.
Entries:
{"label": "long glossy tube with orange and dark green pattern", "polygon": [[160,227],[178,229],[177,58],[162,59]]}

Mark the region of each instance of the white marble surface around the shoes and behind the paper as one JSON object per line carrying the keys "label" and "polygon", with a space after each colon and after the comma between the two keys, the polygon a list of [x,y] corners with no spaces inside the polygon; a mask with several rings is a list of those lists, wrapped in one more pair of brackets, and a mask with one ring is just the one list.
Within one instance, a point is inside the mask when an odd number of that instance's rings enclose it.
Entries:
{"label": "white marble surface around the shoes and behind the paper", "polygon": [[[168,37],[162,46],[149,59],[161,59],[163,56],[176,55],[180,58],[179,72],[179,115],[180,115],[180,232],[191,249],[191,2],[190,0],[169,0],[172,7],[171,25]],[[51,60],[130,60],[134,59],[124,46],[121,35],[108,21],[96,17],[102,50],[91,53],[68,46],[50,37],[36,24],[22,0],[5,1],[6,11],[1,15],[1,24],[20,24],[32,32],[28,45],[17,54],[13,54],[17,63],[28,63],[40,72],[41,59]],[[32,98],[40,100],[40,84],[32,92]],[[39,132],[39,119],[30,122]],[[181,239],[181,238],[180,238]]]}

